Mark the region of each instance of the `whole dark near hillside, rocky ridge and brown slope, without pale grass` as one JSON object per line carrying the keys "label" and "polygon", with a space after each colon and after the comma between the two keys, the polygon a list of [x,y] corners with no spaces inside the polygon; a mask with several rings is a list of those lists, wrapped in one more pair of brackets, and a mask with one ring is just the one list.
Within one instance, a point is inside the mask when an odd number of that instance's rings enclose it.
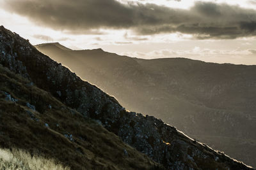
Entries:
{"label": "whole dark near hillside, rocky ridge and brown slope, without pale grass", "polygon": [[1,147],[44,153],[72,169],[161,168],[155,162],[165,169],[252,169],[157,118],[126,111],[3,26],[0,52]]}

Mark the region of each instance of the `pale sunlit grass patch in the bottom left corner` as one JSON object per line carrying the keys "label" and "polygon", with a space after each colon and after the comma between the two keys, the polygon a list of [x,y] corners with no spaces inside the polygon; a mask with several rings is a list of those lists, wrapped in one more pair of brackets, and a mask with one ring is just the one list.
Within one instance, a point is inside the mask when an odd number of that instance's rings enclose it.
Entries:
{"label": "pale sunlit grass patch in the bottom left corner", "polygon": [[53,159],[46,159],[38,155],[30,155],[23,150],[0,149],[0,169],[54,169],[54,170],[69,170]]}

